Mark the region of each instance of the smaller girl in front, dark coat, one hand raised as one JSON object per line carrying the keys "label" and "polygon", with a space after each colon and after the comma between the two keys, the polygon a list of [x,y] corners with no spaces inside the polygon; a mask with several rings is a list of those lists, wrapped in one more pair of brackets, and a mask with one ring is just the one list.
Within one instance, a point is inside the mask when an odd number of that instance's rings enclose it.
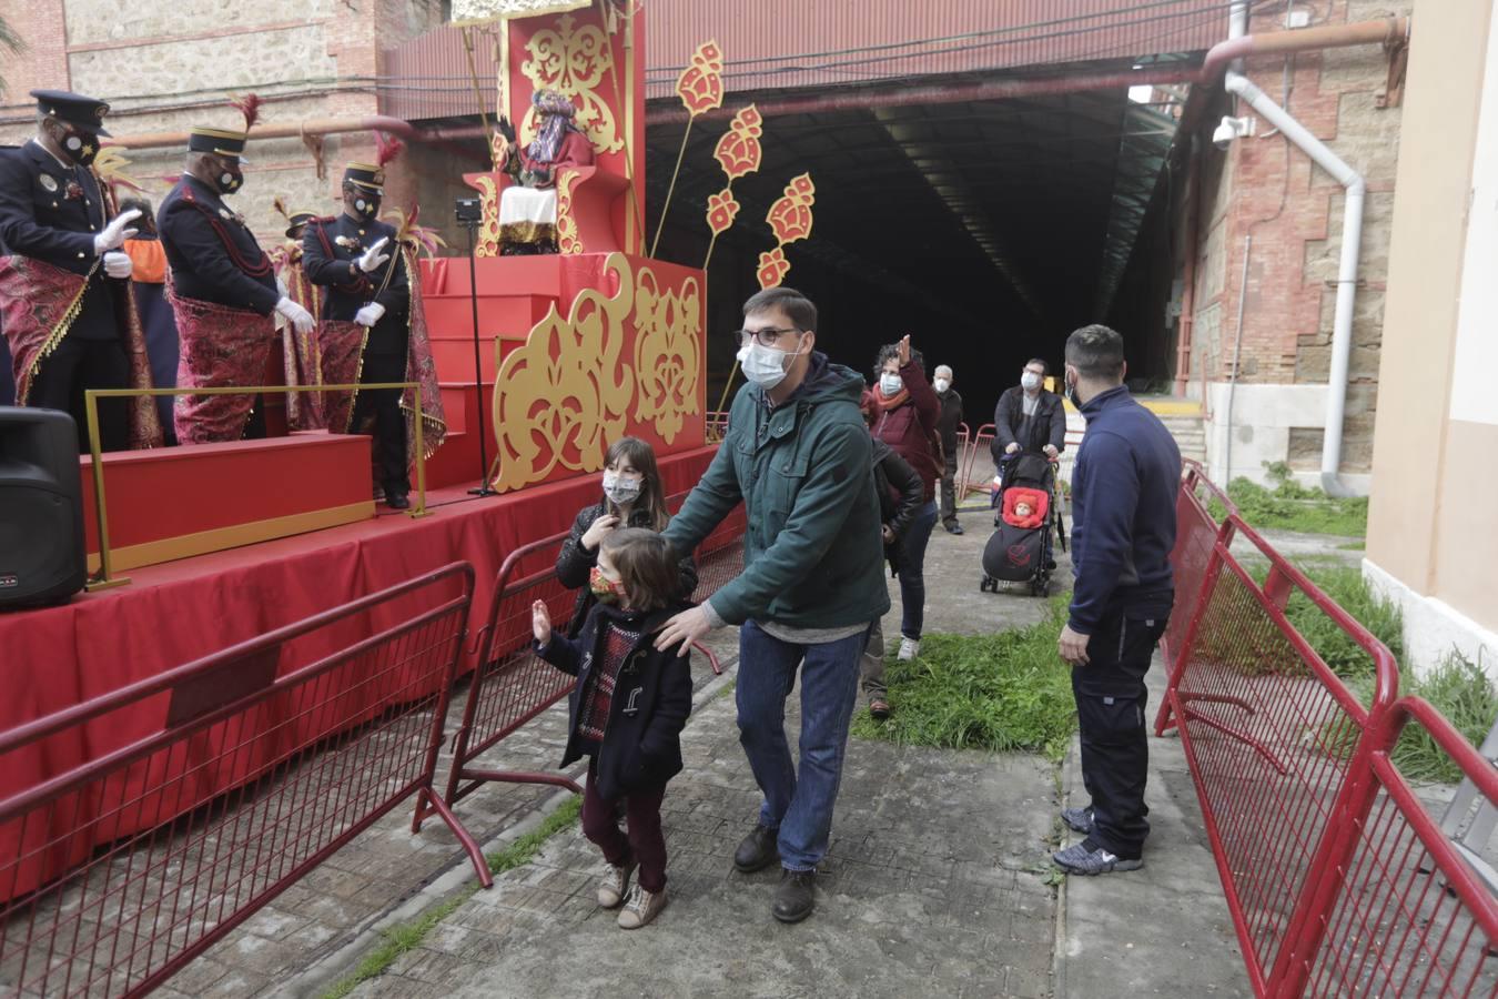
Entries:
{"label": "smaller girl in front, dark coat, one hand raised", "polygon": [[[568,698],[566,767],[589,756],[583,791],[583,834],[608,861],[598,903],[625,902],[619,926],[638,929],[665,908],[665,836],[661,800],[682,773],[682,728],[692,711],[692,671],[686,656],[655,647],[656,634],[682,604],[676,596],[676,553],[653,530],[623,527],[599,545],[589,587],[598,596],[574,640],[551,631],[547,605],[532,605],[536,655],[575,675]],[[625,801],[628,837],[616,806]]]}

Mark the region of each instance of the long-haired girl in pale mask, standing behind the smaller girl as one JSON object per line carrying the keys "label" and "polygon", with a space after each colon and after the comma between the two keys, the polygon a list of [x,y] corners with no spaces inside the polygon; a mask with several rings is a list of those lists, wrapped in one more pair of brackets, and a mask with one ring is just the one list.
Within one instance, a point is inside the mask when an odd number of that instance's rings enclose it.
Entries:
{"label": "long-haired girl in pale mask, standing behind the smaller girl", "polygon": [[[604,457],[604,496],[589,503],[572,520],[572,533],[557,553],[557,580],[577,590],[577,605],[568,625],[568,638],[577,638],[583,622],[596,602],[587,589],[589,574],[598,565],[598,547],[619,527],[665,530],[671,515],[665,509],[665,491],[655,451],[640,437],[620,437]],[[697,563],[688,554],[679,566],[677,598],[691,599],[697,590]]]}

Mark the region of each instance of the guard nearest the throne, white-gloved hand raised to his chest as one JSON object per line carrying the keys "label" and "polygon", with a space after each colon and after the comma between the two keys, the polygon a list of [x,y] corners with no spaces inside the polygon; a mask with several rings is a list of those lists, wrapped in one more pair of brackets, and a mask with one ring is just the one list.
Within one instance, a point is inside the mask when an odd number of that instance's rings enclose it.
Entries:
{"label": "guard nearest the throne, white-gloved hand raised to his chest", "polygon": [[[410,288],[404,259],[394,244],[395,228],[376,217],[383,192],[380,166],[351,163],[343,171],[343,214],[310,222],[301,244],[307,280],[330,289],[322,319],[369,328],[360,382],[406,380]],[[410,506],[410,478],[400,391],[360,392],[349,430],[358,431],[370,416],[374,419],[376,475],[385,502],[394,509],[406,509]],[[342,427],[330,425],[330,430]]]}

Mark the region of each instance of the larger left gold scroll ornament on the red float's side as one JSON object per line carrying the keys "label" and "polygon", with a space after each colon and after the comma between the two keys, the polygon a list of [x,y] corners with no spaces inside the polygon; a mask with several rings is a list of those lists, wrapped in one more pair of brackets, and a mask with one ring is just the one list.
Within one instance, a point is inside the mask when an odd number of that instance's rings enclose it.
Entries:
{"label": "larger left gold scroll ornament on the red float's side", "polygon": [[617,277],[613,295],[581,291],[566,319],[553,304],[526,344],[499,365],[494,488],[502,493],[539,482],[557,466],[598,472],[608,442],[625,433],[635,380],[620,355],[635,280],[623,253],[610,253],[604,270]]}

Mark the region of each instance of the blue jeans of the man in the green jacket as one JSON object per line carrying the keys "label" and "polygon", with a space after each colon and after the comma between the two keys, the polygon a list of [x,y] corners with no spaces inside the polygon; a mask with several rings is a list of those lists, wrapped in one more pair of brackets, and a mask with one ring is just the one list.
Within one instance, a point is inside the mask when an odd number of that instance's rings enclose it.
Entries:
{"label": "blue jeans of the man in the green jacket", "polygon": [[[815,870],[827,852],[848,722],[858,693],[858,659],[867,641],[867,631],[803,646],[780,641],[753,622],[739,629],[739,741],[764,794],[759,824],[779,828],[780,864],[788,870]],[[797,666],[800,774],[785,740],[785,698],[795,686]]]}

